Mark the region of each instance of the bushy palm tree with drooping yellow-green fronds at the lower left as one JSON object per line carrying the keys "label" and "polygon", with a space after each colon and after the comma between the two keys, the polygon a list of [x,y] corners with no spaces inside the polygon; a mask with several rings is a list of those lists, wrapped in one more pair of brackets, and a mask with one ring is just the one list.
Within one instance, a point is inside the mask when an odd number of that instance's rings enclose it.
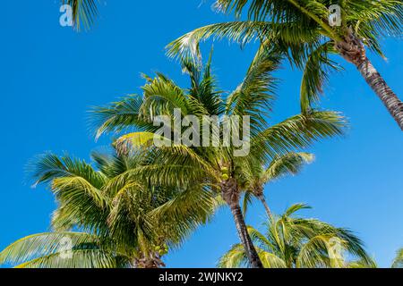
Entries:
{"label": "bushy palm tree with drooping yellow-green fronds at the lower left", "polygon": [[[91,164],[69,156],[41,156],[38,183],[56,196],[54,232],[30,235],[0,253],[0,264],[22,268],[156,268],[213,212],[209,192],[162,188],[127,180],[124,173],[145,162],[132,156],[94,153]],[[78,232],[78,231],[81,232]]]}

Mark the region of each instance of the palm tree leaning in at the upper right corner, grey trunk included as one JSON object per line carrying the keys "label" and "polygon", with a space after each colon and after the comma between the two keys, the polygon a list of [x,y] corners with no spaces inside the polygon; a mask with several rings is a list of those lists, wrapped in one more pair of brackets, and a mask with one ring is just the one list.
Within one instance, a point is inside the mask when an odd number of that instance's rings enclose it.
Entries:
{"label": "palm tree leaning in at the upper right corner, grey trunk included", "polygon": [[322,93],[330,71],[339,65],[330,55],[341,55],[353,63],[373,88],[389,113],[403,130],[403,103],[383,80],[367,57],[367,49],[382,54],[380,40],[401,36],[403,4],[399,0],[338,1],[341,24],[330,21],[330,0],[217,0],[219,11],[235,11],[239,16],[248,10],[249,21],[212,24],[178,38],[168,46],[169,55],[193,55],[202,40],[230,38],[241,45],[259,38],[276,45],[292,63],[304,70],[301,105],[312,108]]}

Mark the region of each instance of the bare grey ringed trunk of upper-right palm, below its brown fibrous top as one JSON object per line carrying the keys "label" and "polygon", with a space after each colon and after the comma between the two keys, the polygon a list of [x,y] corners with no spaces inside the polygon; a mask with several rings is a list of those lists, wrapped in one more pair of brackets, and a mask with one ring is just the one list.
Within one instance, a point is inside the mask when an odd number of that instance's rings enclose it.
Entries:
{"label": "bare grey ringed trunk of upper-right palm, below its brown fibrous top", "polygon": [[357,64],[356,67],[361,72],[364,80],[382,100],[390,115],[398,122],[400,129],[403,130],[403,102],[383,80],[381,74],[376,71],[368,58],[365,58],[363,63]]}

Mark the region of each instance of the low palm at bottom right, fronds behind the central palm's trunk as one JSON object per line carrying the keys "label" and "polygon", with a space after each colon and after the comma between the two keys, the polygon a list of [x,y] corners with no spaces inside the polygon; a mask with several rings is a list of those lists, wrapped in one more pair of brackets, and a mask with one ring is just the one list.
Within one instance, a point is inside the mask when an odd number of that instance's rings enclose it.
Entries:
{"label": "low palm at bottom right, fronds behind the central palm's trunk", "polygon": [[[297,204],[281,216],[265,223],[266,233],[248,228],[262,263],[267,268],[346,267],[343,251],[363,261],[371,261],[363,243],[351,231],[336,228],[316,219],[296,217],[296,212],[309,208]],[[244,248],[237,244],[220,258],[219,267],[249,266]]]}

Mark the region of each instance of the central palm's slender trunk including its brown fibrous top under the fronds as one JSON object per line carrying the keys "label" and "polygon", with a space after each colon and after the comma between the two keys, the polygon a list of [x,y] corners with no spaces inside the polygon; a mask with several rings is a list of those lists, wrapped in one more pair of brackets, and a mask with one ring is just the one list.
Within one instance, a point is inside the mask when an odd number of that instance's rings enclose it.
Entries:
{"label": "central palm's slender trunk including its brown fibrous top under the fronds", "polygon": [[239,206],[239,189],[234,178],[221,182],[221,196],[226,201],[234,216],[236,231],[244,246],[244,251],[249,259],[249,263],[253,268],[263,268],[261,258],[256,248],[253,246],[253,241],[249,236],[246,223],[244,222],[244,214],[242,214],[241,206]]}

